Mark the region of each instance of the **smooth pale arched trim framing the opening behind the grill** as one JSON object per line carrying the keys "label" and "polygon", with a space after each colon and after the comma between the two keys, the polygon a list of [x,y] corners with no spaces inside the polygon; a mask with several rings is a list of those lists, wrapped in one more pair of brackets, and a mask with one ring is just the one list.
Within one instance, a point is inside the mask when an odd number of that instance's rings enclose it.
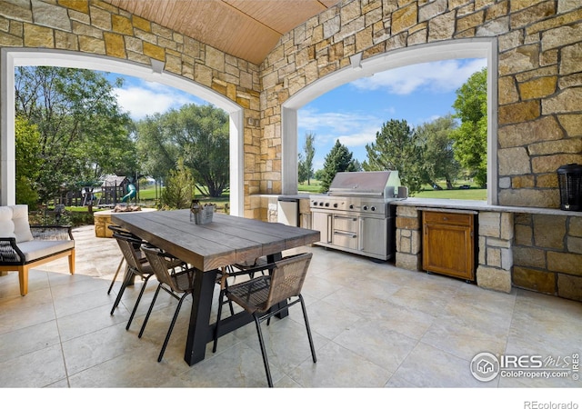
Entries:
{"label": "smooth pale arched trim framing the opening behind the grill", "polygon": [[282,106],[282,185],[284,194],[297,191],[297,111],[316,97],[355,81],[392,68],[450,59],[487,59],[487,203],[497,205],[497,41],[467,39],[436,45],[416,45],[361,60],[350,57],[350,66],[318,79],[290,97]]}

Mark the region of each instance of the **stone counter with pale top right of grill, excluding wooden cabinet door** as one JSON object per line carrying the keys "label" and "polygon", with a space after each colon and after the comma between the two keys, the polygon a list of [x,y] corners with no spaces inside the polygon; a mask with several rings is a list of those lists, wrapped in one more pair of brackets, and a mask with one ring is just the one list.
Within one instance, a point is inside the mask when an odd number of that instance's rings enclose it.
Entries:
{"label": "stone counter with pale top right of grill, excluding wooden cabinet door", "polygon": [[[582,217],[580,212],[415,197],[396,200],[390,205],[396,206],[397,267],[426,271],[423,257],[432,249],[423,244],[426,231],[430,230],[430,226],[427,229],[423,225],[423,215],[433,214],[435,218],[435,214],[441,212],[457,213],[459,217],[460,214],[474,214],[477,233],[475,279],[479,287],[509,293],[515,285],[542,293],[563,294],[566,298],[580,297],[580,292],[573,290],[579,287],[571,283],[579,276],[582,256],[572,254],[568,247],[579,237],[576,228],[579,224],[572,221]],[[448,218],[447,215],[443,217]],[[551,245],[547,245],[548,240]],[[532,269],[531,257],[527,254],[544,255]]]}

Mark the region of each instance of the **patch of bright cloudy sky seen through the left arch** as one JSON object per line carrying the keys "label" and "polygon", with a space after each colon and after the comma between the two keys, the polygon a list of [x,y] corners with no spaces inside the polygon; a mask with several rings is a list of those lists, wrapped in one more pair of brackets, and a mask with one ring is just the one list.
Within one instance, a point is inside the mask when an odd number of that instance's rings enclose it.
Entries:
{"label": "patch of bright cloudy sky seen through the left arch", "polygon": [[185,104],[199,104],[194,95],[141,80],[123,88],[115,88],[114,92],[118,104],[135,120],[143,119],[146,115],[164,114],[170,108],[179,108]]}

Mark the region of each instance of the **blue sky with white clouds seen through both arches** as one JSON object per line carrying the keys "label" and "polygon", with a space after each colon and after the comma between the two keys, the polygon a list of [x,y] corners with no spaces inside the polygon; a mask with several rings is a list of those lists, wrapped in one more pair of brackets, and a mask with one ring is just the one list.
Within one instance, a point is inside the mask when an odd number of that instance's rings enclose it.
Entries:
{"label": "blue sky with white clouds seen through both arches", "polygon": [[[336,139],[363,162],[365,146],[376,140],[382,124],[396,119],[417,126],[452,114],[457,89],[486,65],[485,59],[408,65],[339,86],[299,110],[299,152],[303,151],[306,133],[311,133],[315,135],[315,170],[323,167]],[[125,85],[115,93],[119,104],[135,120],[185,104],[206,104],[195,95],[166,85],[124,78]]]}

